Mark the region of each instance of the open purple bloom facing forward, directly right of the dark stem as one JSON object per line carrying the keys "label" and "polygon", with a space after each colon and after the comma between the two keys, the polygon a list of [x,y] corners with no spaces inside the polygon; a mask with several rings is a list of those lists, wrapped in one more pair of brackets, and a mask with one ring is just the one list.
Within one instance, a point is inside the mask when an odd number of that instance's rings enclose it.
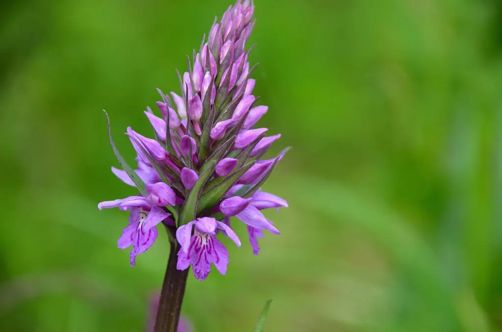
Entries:
{"label": "open purple bloom facing forward, directly right of the dark stem", "polygon": [[[194,225],[195,233],[191,235]],[[230,227],[214,218],[198,218],[176,231],[176,238],[181,245],[178,252],[178,270],[185,270],[192,265],[195,277],[204,280],[213,263],[221,274],[226,273],[228,252],[223,243],[216,239],[216,229],[225,232],[237,247],[240,247],[240,240]]]}

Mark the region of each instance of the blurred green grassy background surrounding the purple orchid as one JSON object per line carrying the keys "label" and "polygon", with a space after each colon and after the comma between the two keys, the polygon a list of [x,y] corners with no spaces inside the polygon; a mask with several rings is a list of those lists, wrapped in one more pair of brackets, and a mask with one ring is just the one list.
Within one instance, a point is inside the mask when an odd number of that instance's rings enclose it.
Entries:
{"label": "blurred green grassy background surrounding the purple orchid", "polygon": [[[281,236],[230,242],[226,276],[190,274],[196,331],[502,328],[502,3],[256,0],[261,125],[294,148],[266,191]],[[30,0],[0,5],[0,330],[144,329],[167,237],[129,266],[128,125],[229,3]],[[237,223],[234,223],[238,225]],[[246,239],[244,227],[237,233]]]}

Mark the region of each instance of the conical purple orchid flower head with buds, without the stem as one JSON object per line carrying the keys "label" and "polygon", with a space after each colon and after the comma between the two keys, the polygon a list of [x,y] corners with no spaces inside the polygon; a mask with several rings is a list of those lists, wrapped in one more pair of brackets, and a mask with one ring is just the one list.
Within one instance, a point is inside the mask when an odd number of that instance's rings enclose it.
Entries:
{"label": "conical purple orchid flower head with buds, without the stem", "polygon": [[260,190],[284,152],[263,159],[281,135],[265,136],[267,128],[254,128],[268,107],[255,106],[255,80],[249,78],[254,67],[249,68],[245,44],[255,25],[253,12],[249,0],[229,7],[194,51],[193,68],[188,60],[189,71],[179,75],[181,95],[171,92],[172,102],[159,90],[161,117],[145,111],[155,139],[127,129],[138,169],[128,171],[121,162],[124,170],[112,172],[141,195],[101,202],[98,208],[131,212],[118,247],[133,247],[132,265],[155,242],[159,223],[180,245],[177,268],[192,265],[201,280],[211,263],[226,272],[228,252],[216,238],[218,231],[240,246],[229,217],[247,225],[254,254],[260,252],[263,230],[279,234],[261,212],[288,205]]}

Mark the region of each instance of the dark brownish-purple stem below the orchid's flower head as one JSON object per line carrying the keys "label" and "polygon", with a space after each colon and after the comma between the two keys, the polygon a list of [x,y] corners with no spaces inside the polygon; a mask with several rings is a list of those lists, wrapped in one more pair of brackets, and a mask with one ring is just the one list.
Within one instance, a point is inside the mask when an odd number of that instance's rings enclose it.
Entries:
{"label": "dark brownish-purple stem below the orchid's flower head", "polygon": [[173,242],[170,244],[171,251],[162,283],[154,332],[176,332],[180,319],[181,303],[185,294],[189,269],[183,271],[176,269],[180,246]]}

